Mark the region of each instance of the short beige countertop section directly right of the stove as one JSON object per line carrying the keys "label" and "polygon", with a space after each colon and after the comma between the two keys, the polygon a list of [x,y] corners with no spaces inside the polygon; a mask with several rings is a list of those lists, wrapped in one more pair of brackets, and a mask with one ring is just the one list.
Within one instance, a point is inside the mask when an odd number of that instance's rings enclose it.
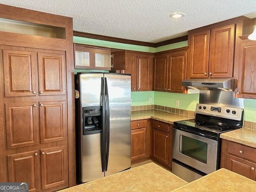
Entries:
{"label": "short beige countertop section directly right of the stove", "polygon": [[256,148],[256,130],[240,128],[220,134],[220,138]]}

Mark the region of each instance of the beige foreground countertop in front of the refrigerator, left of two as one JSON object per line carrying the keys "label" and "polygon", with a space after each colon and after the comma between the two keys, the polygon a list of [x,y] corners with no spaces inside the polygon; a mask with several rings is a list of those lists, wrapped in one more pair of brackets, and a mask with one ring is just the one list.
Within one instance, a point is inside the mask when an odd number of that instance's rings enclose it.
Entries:
{"label": "beige foreground countertop in front of the refrigerator, left of two", "polygon": [[149,163],[62,192],[170,192],[186,184],[164,168]]}

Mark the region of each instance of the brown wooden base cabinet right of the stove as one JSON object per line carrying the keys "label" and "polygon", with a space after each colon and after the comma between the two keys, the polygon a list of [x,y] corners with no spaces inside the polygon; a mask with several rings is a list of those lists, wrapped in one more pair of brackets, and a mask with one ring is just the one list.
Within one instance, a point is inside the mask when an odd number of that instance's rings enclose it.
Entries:
{"label": "brown wooden base cabinet right of the stove", "polygon": [[220,166],[256,180],[256,149],[222,140]]}

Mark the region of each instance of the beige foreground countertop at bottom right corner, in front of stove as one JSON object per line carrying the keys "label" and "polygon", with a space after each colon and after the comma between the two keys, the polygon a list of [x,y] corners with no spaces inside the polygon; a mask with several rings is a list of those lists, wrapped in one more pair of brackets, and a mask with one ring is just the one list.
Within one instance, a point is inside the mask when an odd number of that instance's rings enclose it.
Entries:
{"label": "beige foreground countertop at bottom right corner, in front of stove", "polygon": [[224,168],[192,181],[174,192],[256,192],[256,182]]}

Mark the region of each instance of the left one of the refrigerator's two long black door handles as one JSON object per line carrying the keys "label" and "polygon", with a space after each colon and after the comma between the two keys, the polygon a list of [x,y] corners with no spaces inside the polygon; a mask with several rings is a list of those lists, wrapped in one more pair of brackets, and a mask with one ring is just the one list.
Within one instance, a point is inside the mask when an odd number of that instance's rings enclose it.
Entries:
{"label": "left one of the refrigerator's two long black door handles", "polygon": [[104,78],[101,78],[101,98],[102,98],[102,138],[101,138],[101,169],[105,171],[105,153],[106,153],[106,103]]}

